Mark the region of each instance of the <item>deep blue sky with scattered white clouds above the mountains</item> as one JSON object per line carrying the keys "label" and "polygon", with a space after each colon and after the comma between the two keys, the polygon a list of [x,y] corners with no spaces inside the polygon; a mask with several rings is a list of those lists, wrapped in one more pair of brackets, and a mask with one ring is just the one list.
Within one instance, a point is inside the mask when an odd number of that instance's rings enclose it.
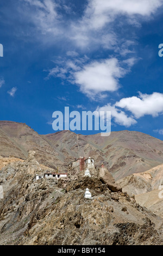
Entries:
{"label": "deep blue sky with scattered white clouds above the mountains", "polygon": [[162,15],[163,0],[1,1],[0,119],[46,134],[66,106],[105,110],[112,131],[162,139]]}

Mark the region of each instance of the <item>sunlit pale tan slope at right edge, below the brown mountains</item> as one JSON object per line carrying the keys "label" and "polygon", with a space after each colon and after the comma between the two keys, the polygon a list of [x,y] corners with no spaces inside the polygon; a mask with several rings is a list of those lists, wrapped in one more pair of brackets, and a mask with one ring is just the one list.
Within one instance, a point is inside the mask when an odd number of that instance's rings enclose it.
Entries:
{"label": "sunlit pale tan slope at right edge, below the brown mountains", "polygon": [[117,181],[123,192],[135,194],[136,202],[163,217],[163,164]]}

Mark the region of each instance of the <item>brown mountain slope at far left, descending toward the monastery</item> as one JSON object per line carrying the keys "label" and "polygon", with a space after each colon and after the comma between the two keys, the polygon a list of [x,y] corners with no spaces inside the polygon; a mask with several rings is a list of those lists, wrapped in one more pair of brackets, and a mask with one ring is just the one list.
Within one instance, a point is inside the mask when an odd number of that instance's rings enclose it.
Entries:
{"label": "brown mountain slope at far left, descending toward the monastery", "polygon": [[35,150],[39,163],[54,169],[61,165],[59,154],[26,124],[0,121],[0,143],[1,156],[26,159],[28,151]]}

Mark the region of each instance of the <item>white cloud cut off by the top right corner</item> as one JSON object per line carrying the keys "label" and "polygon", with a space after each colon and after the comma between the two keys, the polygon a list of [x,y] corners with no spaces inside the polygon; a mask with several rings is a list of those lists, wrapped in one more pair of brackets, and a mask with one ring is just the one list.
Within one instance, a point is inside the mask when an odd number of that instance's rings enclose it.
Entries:
{"label": "white cloud cut off by the top right corner", "polygon": [[162,0],[89,0],[83,23],[92,29],[101,29],[117,15],[147,17],[155,13],[162,2]]}

